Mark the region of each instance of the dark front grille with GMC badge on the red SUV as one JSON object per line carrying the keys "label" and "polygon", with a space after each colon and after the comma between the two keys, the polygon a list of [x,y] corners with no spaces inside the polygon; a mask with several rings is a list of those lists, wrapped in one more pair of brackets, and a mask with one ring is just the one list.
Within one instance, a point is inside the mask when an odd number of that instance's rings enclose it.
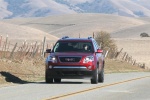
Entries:
{"label": "dark front grille with GMC badge on the red SUV", "polygon": [[79,62],[81,57],[59,57],[61,62]]}

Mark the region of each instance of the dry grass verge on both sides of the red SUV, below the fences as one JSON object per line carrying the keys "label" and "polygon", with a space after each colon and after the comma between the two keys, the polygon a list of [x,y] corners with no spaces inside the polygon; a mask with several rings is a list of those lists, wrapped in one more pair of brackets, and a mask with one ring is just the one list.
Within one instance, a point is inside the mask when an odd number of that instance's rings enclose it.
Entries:
{"label": "dry grass verge on both sides of the red SUV, below the fences", "polygon": [[[145,71],[137,66],[117,60],[106,59],[105,73]],[[45,73],[44,60],[11,61],[0,60],[0,84],[30,83],[43,80]]]}

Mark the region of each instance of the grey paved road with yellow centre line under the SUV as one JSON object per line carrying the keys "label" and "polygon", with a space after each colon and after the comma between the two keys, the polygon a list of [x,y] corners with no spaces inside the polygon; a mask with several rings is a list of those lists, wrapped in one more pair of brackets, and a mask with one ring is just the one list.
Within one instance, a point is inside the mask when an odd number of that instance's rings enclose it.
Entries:
{"label": "grey paved road with yellow centre line under the SUV", "polygon": [[60,84],[35,82],[0,88],[0,100],[150,100],[150,72],[105,74],[105,82],[62,80]]}

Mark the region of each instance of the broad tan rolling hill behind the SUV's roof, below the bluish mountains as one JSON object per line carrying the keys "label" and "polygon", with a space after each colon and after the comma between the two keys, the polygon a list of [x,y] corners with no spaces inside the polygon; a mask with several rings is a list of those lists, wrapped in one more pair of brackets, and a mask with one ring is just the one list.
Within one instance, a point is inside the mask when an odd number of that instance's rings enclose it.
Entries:
{"label": "broad tan rolling hill behind the SUV's roof, below the bluish mountains", "polygon": [[[93,32],[114,32],[130,27],[145,25],[145,21],[130,17],[108,14],[68,14],[31,19],[7,19],[4,22],[39,29],[56,37],[92,36]],[[116,33],[117,34],[117,33]]]}

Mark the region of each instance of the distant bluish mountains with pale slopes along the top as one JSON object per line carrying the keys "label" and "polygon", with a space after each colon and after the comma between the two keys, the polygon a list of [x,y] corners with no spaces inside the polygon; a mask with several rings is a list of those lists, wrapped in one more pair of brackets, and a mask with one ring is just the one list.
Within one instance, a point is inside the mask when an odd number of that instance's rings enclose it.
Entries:
{"label": "distant bluish mountains with pale slopes along the top", "polygon": [[0,0],[0,19],[75,13],[150,16],[150,0]]}

